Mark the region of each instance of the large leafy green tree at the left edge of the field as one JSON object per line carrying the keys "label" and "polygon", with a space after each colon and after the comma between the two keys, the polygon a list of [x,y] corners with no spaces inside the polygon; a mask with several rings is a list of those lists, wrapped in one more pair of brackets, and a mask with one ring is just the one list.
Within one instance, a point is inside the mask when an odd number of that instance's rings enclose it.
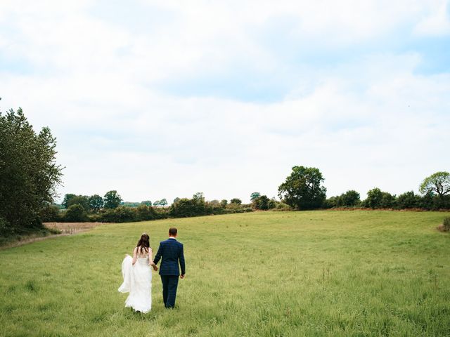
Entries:
{"label": "large leafy green tree at the left edge of the field", "polygon": [[39,213],[61,183],[56,138],[33,130],[22,109],[0,112],[0,218],[9,232],[41,227]]}

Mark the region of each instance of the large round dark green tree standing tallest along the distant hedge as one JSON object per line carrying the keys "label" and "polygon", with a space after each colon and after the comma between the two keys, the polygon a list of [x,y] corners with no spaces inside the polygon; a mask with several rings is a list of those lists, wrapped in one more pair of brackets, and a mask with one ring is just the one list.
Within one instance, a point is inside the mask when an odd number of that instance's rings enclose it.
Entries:
{"label": "large round dark green tree standing tallest along the distant hedge", "polygon": [[326,198],[323,180],[319,169],[294,166],[290,176],[278,187],[278,196],[295,209],[318,209]]}

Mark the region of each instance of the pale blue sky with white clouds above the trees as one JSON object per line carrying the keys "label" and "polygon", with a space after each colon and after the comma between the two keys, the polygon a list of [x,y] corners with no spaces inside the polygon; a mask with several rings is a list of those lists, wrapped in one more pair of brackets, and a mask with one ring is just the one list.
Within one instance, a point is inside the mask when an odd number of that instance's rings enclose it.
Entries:
{"label": "pale blue sky with white clouds above the trees", "polygon": [[450,1],[0,0],[0,111],[57,138],[66,193],[327,196],[450,171]]}

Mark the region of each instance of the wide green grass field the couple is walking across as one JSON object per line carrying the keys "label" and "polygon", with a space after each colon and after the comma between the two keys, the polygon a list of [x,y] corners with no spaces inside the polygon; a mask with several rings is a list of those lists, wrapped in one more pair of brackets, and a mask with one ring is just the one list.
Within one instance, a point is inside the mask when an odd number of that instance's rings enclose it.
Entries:
{"label": "wide green grass field the couple is walking across", "polygon": [[[449,213],[257,212],[101,225],[0,251],[0,336],[450,336]],[[177,307],[124,308],[142,232],[179,228]]]}

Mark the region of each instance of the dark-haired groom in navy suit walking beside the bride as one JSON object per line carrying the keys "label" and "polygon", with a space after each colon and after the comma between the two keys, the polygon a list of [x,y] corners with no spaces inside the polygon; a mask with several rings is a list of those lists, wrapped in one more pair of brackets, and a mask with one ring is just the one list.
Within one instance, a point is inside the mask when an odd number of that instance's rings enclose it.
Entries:
{"label": "dark-haired groom in navy suit walking beside the bride", "polygon": [[[176,241],[176,232],[175,227],[169,228],[169,239],[160,242],[160,248],[155,255],[155,260],[153,260],[156,265],[160,258],[162,258],[160,276],[162,282],[162,299],[166,308],[174,308],[178,277],[184,279],[184,275],[186,274],[183,244]],[[181,267],[181,275],[178,263]]]}

